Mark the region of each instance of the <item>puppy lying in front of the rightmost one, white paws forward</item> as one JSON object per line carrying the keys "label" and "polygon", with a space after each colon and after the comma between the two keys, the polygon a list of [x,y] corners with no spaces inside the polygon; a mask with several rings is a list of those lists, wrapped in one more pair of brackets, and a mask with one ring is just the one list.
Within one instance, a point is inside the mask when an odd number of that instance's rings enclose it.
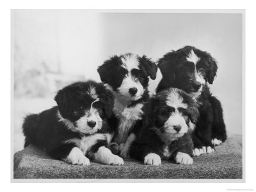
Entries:
{"label": "puppy lying in front of the rightmost one, white paws forward", "polygon": [[195,101],[182,90],[169,88],[152,96],[143,107],[142,129],[130,147],[130,156],[158,166],[161,159],[192,164],[193,141],[190,121],[195,123]]}

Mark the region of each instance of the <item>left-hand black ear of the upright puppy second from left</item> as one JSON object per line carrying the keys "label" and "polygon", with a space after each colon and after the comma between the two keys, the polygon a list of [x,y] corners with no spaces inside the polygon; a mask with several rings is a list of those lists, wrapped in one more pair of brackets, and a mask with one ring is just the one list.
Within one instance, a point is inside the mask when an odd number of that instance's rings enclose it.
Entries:
{"label": "left-hand black ear of the upright puppy second from left", "polygon": [[102,65],[100,65],[97,71],[100,75],[102,83],[109,83],[109,81],[111,81],[111,67],[119,62],[121,62],[120,58],[118,56],[113,56],[109,60],[106,60]]}

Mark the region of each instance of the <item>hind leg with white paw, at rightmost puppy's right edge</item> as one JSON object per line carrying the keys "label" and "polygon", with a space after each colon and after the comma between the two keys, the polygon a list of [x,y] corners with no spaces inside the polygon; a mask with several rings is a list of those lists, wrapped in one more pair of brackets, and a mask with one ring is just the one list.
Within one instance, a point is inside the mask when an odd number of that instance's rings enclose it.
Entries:
{"label": "hind leg with white paw, at rightmost puppy's right edge", "polygon": [[227,140],[226,126],[223,120],[223,110],[220,100],[216,97],[210,97],[212,104],[214,120],[212,123],[212,145],[220,145]]}

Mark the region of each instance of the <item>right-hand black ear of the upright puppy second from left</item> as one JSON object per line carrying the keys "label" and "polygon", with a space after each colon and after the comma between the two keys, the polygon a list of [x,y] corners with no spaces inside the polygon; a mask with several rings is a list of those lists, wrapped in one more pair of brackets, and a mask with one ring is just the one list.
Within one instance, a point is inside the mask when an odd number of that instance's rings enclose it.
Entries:
{"label": "right-hand black ear of the upright puppy second from left", "polygon": [[140,67],[150,79],[156,79],[157,65],[150,59],[148,59],[145,55],[139,58]]}

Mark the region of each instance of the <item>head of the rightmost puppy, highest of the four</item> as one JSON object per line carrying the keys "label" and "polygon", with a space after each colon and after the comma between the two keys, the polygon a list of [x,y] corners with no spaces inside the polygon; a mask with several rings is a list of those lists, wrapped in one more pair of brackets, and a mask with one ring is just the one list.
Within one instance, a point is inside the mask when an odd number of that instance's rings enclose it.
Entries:
{"label": "head of the rightmost puppy, highest of the four", "polygon": [[168,52],[158,63],[163,74],[161,89],[175,87],[187,93],[202,92],[205,83],[213,83],[218,69],[209,53],[191,46]]}

